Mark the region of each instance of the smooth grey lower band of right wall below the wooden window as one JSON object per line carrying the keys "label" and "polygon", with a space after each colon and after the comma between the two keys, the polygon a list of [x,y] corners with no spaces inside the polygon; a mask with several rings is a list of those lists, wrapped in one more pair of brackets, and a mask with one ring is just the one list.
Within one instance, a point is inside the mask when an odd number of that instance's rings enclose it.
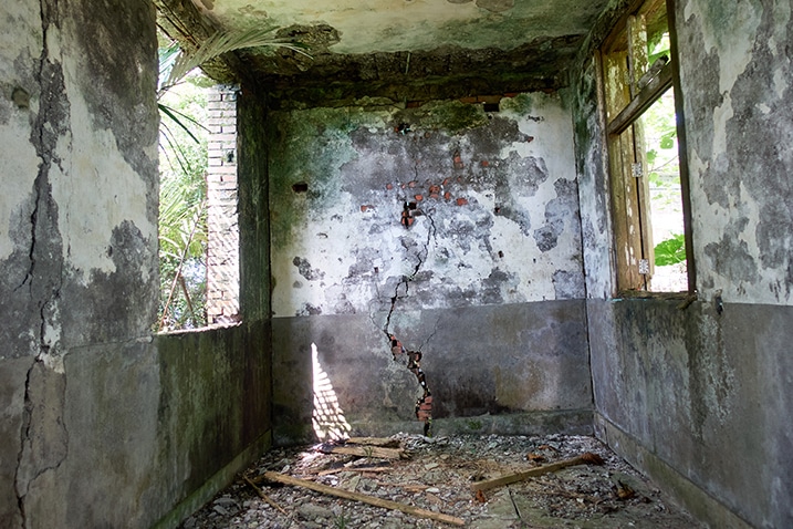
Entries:
{"label": "smooth grey lower band of right wall below the wooden window", "polygon": [[[793,357],[782,330],[793,308],[676,307],[589,302],[597,409],[653,456],[634,460],[647,471],[662,463],[749,525],[789,527]],[[724,516],[696,496],[681,501],[713,523]]]}

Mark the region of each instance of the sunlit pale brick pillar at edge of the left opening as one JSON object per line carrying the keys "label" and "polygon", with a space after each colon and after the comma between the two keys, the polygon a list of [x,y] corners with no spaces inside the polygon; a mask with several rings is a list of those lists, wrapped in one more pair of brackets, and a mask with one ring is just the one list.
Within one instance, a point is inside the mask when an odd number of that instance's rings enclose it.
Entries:
{"label": "sunlit pale brick pillar at edge of the left opening", "polygon": [[213,86],[207,111],[207,322],[231,323],[240,312],[237,87]]}

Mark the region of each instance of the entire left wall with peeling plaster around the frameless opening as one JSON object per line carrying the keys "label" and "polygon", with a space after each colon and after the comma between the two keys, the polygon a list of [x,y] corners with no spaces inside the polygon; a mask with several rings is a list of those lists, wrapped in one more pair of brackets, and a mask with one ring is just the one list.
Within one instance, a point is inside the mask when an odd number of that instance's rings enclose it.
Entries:
{"label": "entire left wall with peeling plaster around the frameless opening", "polygon": [[7,3],[0,527],[175,527],[269,443],[269,325],[150,335],[152,4]]}

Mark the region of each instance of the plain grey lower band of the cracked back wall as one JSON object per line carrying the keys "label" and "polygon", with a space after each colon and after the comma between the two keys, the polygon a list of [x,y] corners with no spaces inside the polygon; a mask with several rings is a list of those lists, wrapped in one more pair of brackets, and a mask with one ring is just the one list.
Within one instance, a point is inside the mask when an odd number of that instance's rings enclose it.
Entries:
{"label": "plain grey lower band of the cracked back wall", "polygon": [[[409,336],[413,343],[406,346],[424,352],[439,432],[529,434],[538,425],[591,432],[583,301],[400,312],[393,317],[393,331]],[[421,388],[405,359],[394,360],[368,315],[276,318],[276,443],[315,438],[312,377],[317,369],[330,380],[351,435],[421,432],[414,413]]]}

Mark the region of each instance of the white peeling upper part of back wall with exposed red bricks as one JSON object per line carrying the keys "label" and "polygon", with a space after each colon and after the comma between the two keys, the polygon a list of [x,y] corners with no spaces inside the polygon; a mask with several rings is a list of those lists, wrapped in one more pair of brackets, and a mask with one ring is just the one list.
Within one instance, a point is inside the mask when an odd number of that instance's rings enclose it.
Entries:
{"label": "white peeling upper part of back wall with exposed red bricks", "polygon": [[583,298],[570,120],[545,94],[273,112],[274,315]]}

